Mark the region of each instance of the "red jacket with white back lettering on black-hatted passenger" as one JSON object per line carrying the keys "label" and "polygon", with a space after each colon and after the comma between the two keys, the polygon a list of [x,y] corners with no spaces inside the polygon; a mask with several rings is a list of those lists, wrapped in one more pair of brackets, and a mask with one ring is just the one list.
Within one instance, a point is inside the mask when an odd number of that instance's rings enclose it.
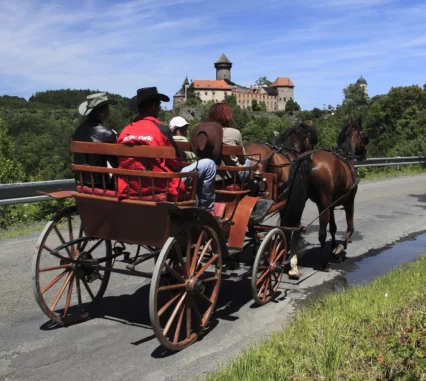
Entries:
{"label": "red jacket with white back lettering on black-hatted passenger", "polygon": [[[117,140],[118,144],[126,145],[147,145],[154,147],[173,147],[176,150],[177,159],[138,159],[131,157],[119,157],[118,168],[121,169],[148,169],[153,172],[179,172],[181,169],[182,153],[173,140],[173,135],[167,126],[161,124],[159,120],[148,116],[143,119],[136,119],[128,126],[124,127]],[[147,165],[148,168],[144,165]],[[152,194],[152,179],[142,178],[142,195]],[[154,179],[154,192],[163,193],[166,191],[167,179]],[[179,190],[185,190],[185,185],[177,178],[170,179],[169,193],[179,194]],[[118,191],[122,197],[127,195],[127,183],[124,179],[118,179]],[[139,181],[137,178],[130,178],[130,196],[139,195]]]}

